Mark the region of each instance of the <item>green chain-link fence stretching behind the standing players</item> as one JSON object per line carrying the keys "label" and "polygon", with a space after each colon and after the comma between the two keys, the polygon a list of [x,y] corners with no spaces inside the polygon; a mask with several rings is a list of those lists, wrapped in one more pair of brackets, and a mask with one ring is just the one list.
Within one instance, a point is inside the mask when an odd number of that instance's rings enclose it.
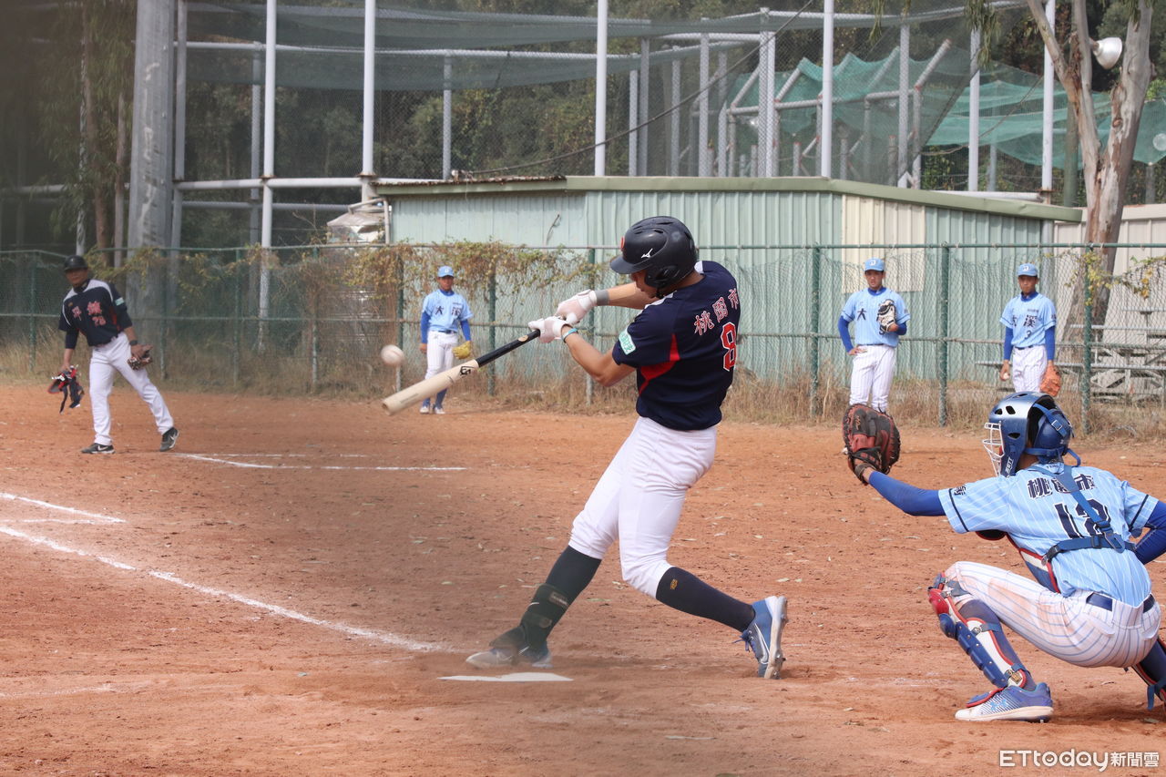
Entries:
{"label": "green chain-link fence stretching behind the standing players", "polygon": [[[1016,268],[1034,261],[1039,289],[1058,306],[1060,401],[1086,426],[1158,424],[1166,413],[1166,288],[1157,271],[1166,246],[1128,246],[1119,275],[1097,276],[1081,298],[1080,249],[1024,245],[708,246],[702,258],[737,276],[743,317],[738,374],[726,412],[761,421],[841,416],[850,360],[837,322],[862,288],[861,256],[878,253],[886,285],[911,312],[891,393],[897,416],[939,425],[978,422],[996,397],[1000,313],[1018,293]],[[126,293],[139,336],[155,345],[156,372],[191,390],[379,398],[424,377],[420,306],[434,272],[450,264],[470,302],[475,352],[526,331],[581,288],[607,287],[613,249],[443,244],[367,247],[318,245],[150,252],[94,274]],[[862,252],[862,253],[861,253]],[[61,257],[0,253],[0,368],[24,379],[49,376],[62,350],[57,331],[68,290]],[[1097,279],[1100,278],[1100,280]],[[1104,321],[1094,306],[1108,293]],[[1075,293],[1077,298],[1075,298]],[[1076,307],[1075,307],[1076,306]],[[599,308],[586,336],[606,350],[632,312]],[[381,364],[381,345],[401,345],[400,370]],[[85,346],[78,360],[86,364]],[[499,359],[455,394],[532,406],[626,406],[634,386],[596,390],[557,345],[533,345]],[[1132,408],[1132,413],[1117,408]],[[1107,415],[1109,414],[1109,415]],[[1111,418],[1110,418],[1111,415]],[[1130,419],[1133,419],[1132,421]]]}

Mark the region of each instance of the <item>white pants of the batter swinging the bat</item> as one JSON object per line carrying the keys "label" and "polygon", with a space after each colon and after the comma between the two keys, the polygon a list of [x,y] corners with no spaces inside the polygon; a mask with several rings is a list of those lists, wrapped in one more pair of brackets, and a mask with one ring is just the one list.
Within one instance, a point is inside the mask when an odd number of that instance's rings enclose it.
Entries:
{"label": "white pants of the batter swinging the bat", "polygon": [[618,538],[624,580],[655,596],[684,496],[716,447],[715,426],[677,432],[641,416],[576,516],[569,545],[602,559]]}

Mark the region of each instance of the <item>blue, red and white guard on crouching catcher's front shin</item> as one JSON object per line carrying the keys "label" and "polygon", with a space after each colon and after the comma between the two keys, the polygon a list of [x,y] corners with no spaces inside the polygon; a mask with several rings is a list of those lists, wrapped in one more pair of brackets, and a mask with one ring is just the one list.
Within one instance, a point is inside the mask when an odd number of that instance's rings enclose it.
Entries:
{"label": "blue, red and white guard on crouching catcher's front shin", "polygon": [[955,639],[971,658],[971,663],[984,673],[996,687],[1018,685],[1025,690],[1035,687],[1028,670],[1017,657],[1012,645],[1000,629],[1000,620],[983,602],[967,597],[968,593],[943,575],[927,589],[935,614],[940,617],[943,635]]}

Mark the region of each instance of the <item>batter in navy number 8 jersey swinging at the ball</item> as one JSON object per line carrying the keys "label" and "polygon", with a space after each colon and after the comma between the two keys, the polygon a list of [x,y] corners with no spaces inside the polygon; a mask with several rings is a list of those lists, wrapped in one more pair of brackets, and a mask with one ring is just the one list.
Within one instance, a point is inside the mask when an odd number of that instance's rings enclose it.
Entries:
{"label": "batter in navy number 8 jersey swinging at the ball", "polygon": [[[721,265],[698,261],[688,228],[667,216],[633,224],[611,268],[632,281],[581,292],[531,327],[542,332],[542,342],[561,340],[571,358],[604,386],[634,372],[639,419],[576,516],[567,548],[518,625],[466,660],[479,668],[550,666],[550,630],[618,539],[628,584],[668,607],[739,631],[757,659],[758,676],[780,677],[785,597],[750,604],[667,560],[688,489],[712,466],[721,402],[737,362],[737,281]],[[640,310],[607,352],[574,327],[596,304]]]}

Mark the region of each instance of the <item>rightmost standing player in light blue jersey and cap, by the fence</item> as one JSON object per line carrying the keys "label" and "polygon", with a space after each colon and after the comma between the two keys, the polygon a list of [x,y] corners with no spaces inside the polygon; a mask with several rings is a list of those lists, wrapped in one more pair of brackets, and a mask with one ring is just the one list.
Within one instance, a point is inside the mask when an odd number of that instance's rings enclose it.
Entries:
{"label": "rightmost standing player in light blue jersey and cap, by the fence", "polygon": [[1020,293],[1007,301],[1000,323],[1004,324],[1004,363],[1000,380],[1012,374],[1017,391],[1039,391],[1040,379],[1056,355],[1056,308],[1037,290],[1037,265],[1017,267]]}

